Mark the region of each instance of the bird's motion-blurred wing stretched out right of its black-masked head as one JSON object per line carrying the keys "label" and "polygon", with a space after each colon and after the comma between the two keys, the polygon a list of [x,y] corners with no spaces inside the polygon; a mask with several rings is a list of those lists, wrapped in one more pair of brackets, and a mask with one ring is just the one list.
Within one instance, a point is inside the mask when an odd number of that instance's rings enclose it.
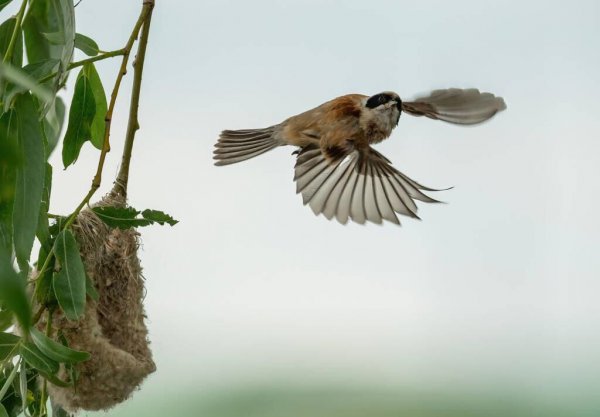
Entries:
{"label": "bird's motion-blurred wing stretched out right of its black-masked head", "polygon": [[506,109],[502,97],[480,93],[475,88],[435,90],[427,97],[402,103],[402,111],[413,116],[427,116],[449,123],[472,125]]}

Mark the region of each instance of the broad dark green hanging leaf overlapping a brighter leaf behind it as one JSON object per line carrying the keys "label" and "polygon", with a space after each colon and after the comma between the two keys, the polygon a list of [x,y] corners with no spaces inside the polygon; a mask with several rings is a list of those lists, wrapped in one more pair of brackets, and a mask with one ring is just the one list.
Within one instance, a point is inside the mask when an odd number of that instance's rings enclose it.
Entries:
{"label": "broad dark green hanging leaf overlapping a brighter leaf behind it", "polygon": [[83,144],[91,139],[96,102],[89,78],[82,69],[77,76],[69,111],[69,125],[63,142],[62,159],[65,168],[77,160]]}

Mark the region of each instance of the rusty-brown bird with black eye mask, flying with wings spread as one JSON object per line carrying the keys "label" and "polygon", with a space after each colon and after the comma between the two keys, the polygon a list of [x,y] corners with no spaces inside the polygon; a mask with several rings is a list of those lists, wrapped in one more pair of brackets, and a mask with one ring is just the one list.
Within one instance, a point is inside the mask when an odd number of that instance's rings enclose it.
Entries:
{"label": "rusty-brown bird with black eye mask, flying with wings spread", "polygon": [[402,113],[474,125],[505,109],[502,97],[475,88],[434,90],[412,101],[392,91],[347,94],[269,127],[223,130],[213,158],[229,165],[295,146],[296,193],[315,215],[400,225],[398,214],[419,219],[415,200],[438,203],[425,192],[441,190],[409,178],[372,145],[390,137]]}

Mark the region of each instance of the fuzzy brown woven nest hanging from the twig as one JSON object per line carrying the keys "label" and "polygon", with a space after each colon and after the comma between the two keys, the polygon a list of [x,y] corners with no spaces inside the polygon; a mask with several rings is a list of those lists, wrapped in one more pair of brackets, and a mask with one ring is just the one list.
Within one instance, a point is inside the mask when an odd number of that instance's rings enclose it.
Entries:
{"label": "fuzzy brown woven nest hanging from the twig", "polygon": [[[110,193],[98,206],[125,206]],[[99,294],[88,297],[84,317],[69,321],[56,314],[53,324],[73,349],[91,353],[79,363],[74,387],[49,385],[53,401],[68,411],[108,409],[124,400],[156,370],[144,323],[144,278],[137,256],[139,233],[111,229],[91,210],[73,224],[86,272]],[[66,370],[60,371],[66,378]]]}

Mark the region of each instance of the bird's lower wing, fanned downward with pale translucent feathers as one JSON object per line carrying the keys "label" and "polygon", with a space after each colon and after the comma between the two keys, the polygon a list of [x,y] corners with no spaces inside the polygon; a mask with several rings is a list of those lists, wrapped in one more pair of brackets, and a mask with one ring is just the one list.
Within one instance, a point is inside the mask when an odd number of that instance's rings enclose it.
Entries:
{"label": "bird's lower wing, fanned downward with pale translucent feathers", "polygon": [[408,178],[370,146],[333,160],[320,148],[307,146],[298,154],[294,181],[315,214],[342,224],[349,218],[361,224],[383,219],[400,224],[396,213],[418,218],[414,200],[438,202],[421,192],[438,190]]}

